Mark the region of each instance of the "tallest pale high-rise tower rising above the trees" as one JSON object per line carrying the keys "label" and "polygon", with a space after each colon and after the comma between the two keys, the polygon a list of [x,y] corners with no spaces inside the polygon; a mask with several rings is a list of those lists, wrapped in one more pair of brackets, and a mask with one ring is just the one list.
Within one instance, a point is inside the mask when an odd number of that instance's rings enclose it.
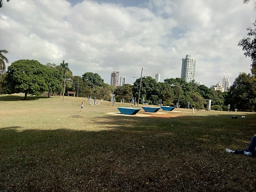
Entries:
{"label": "tallest pale high-rise tower rising above the trees", "polygon": [[191,58],[191,55],[187,54],[185,58],[182,58],[181,78],[186,82],[191,82],[194,79],[194,70],[195,58]]}

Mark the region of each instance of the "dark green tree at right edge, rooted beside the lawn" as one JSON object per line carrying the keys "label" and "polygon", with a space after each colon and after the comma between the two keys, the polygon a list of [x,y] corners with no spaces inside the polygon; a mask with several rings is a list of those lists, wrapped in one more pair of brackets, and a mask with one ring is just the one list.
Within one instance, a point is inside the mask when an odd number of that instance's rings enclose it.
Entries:
{"label": "dark green tree at right edge, rooted beside the lawn", "polygon": [[235,78],[226,95],[225,104],[231,109],[241,111],[256,111],[256,78],[244,72]]}

